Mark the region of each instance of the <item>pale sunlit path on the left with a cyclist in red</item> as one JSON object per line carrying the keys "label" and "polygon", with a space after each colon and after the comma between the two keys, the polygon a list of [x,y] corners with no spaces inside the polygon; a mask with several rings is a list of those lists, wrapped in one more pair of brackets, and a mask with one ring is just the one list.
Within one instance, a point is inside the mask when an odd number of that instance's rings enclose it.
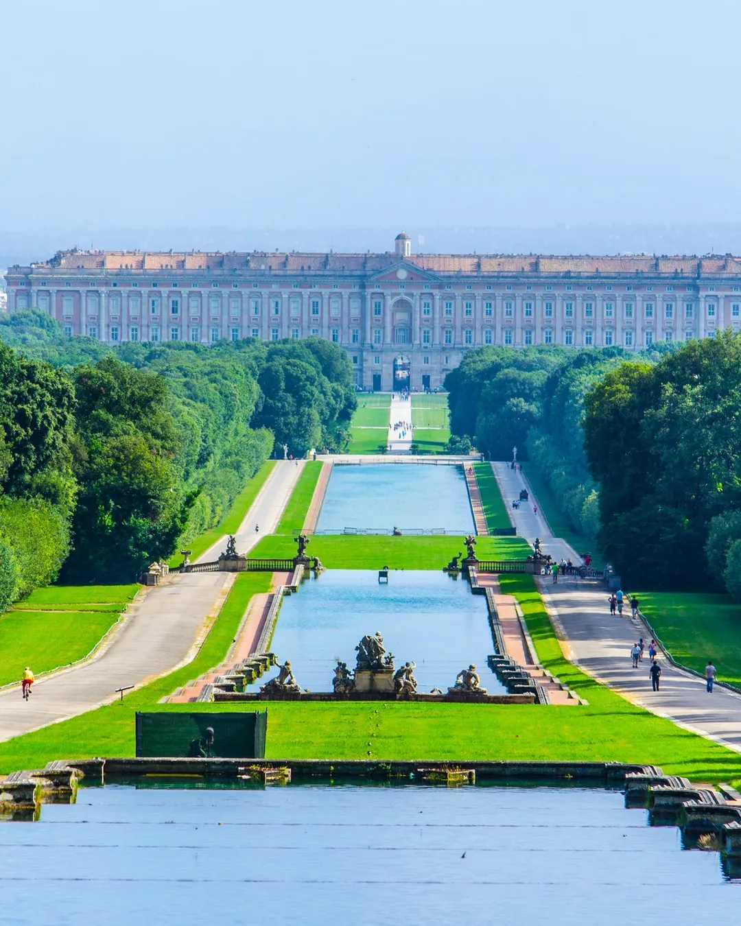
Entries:
{"label": "pale sunlit path on the left with a cyclist in red", "polygon": [[[236,534],[240,553],[275,530],[301,469],[289,461],[276,463]],[[201,558],[215,558],[223,548],[220,540]],[[117,688],[138,687],[190,661],[234,578],[229,572],[186,572],[146,590],[97,657],[34,682],[28,703],[19,687],[0,692],[0,741],[108,704],[119,696]]]}

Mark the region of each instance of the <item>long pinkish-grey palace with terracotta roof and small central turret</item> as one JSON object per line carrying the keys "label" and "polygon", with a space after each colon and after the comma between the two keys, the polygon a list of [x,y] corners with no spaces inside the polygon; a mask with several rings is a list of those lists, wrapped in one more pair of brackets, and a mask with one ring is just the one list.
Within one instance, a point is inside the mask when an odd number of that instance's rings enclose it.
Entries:
{"label": "long pinkish-grey palace with terracotta roof and small central turret", "polygon": [[623,344],[738,329],[741,259],[411,253],[64,251],[7,271],[8,309],[38,307],[107,344],[319,335],[358,385],[442,384],[481,344]]}

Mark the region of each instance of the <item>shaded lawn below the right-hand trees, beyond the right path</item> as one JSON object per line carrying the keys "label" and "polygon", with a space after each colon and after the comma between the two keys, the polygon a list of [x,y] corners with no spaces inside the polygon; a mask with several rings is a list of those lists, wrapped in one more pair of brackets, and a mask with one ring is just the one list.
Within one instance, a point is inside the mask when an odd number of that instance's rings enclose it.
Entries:
{"label": "shaded lawn below the right-hand trees, beyond the right path", "polygon": [[719,682],[741,687],[741,605],[727,594],[636,592],[640,608],[672,657],[704,674],[708,659]]}

